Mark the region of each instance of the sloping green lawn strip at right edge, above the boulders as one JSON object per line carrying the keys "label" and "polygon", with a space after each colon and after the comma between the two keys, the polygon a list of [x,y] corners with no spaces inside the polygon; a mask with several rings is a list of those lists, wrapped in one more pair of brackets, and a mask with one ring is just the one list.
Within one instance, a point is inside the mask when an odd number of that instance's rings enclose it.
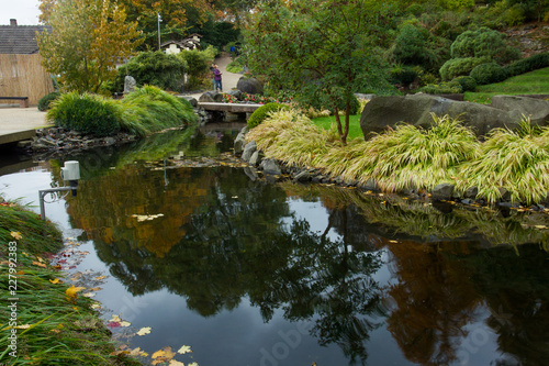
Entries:
{"label": "sloping green lawn strip at right edge, above the boulders", "polygon": [[493,96],[501,95],[549,95],[549,67],[514,76],[502,82],[479,86],[475,92],[466,92],[464,99],[486,104]]}

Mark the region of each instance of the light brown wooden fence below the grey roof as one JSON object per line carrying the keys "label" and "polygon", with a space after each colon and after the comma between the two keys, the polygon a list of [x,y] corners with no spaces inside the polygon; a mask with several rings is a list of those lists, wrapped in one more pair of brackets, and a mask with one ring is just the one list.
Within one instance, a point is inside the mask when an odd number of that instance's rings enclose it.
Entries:
{"label": "light brown wooden fence below the grey roof", "polygon": [[0,97],[29,97],[29,104],[54,91],[41,56],[0,54]]}

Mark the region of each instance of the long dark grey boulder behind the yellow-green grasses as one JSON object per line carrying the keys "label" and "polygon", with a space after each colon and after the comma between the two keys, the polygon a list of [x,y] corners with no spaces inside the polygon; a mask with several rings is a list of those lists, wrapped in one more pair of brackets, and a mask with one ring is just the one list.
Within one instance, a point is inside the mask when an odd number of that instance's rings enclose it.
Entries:
{"label": "long dark grey boulder behind the yellow-green grasses", "polygon": [[370,100],[360,118],[360,127],[365,138],[372,133],[381,133],[388,126],[394,127],[400,122],[428,129],[433,125],[433,115],[445,114],[457,118],[470,126],[478,135],[486,135],[495,127],[514,130],[520,122],[519,111],[506,111],[491,106],[456,101],[428,95],[405,97],[376,97]]}

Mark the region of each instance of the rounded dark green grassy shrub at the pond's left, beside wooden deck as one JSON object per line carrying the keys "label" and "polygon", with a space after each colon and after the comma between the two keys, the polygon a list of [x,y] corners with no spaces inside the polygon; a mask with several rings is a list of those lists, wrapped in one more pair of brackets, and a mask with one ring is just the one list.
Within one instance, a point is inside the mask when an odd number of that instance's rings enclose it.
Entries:
{"label": "rounded dark green grassy shrub at the pond's left, beside wooden deck", "polygon": [[120,131],[119,115],[120,110],[113,100],[68,92],[52,103],[46,119],[82,134],[108,136]]}

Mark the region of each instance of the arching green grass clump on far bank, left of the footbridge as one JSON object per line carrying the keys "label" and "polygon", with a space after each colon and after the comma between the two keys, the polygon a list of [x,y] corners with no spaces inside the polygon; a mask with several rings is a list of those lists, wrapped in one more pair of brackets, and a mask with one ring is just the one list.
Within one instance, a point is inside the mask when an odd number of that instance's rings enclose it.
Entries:
{"label": "arching green grass clump on far bank, left of the footbridge", "polygon": [[187,100],[153,86],[135,89],[120,106],[122,129],[139,136],[197,121]]}

